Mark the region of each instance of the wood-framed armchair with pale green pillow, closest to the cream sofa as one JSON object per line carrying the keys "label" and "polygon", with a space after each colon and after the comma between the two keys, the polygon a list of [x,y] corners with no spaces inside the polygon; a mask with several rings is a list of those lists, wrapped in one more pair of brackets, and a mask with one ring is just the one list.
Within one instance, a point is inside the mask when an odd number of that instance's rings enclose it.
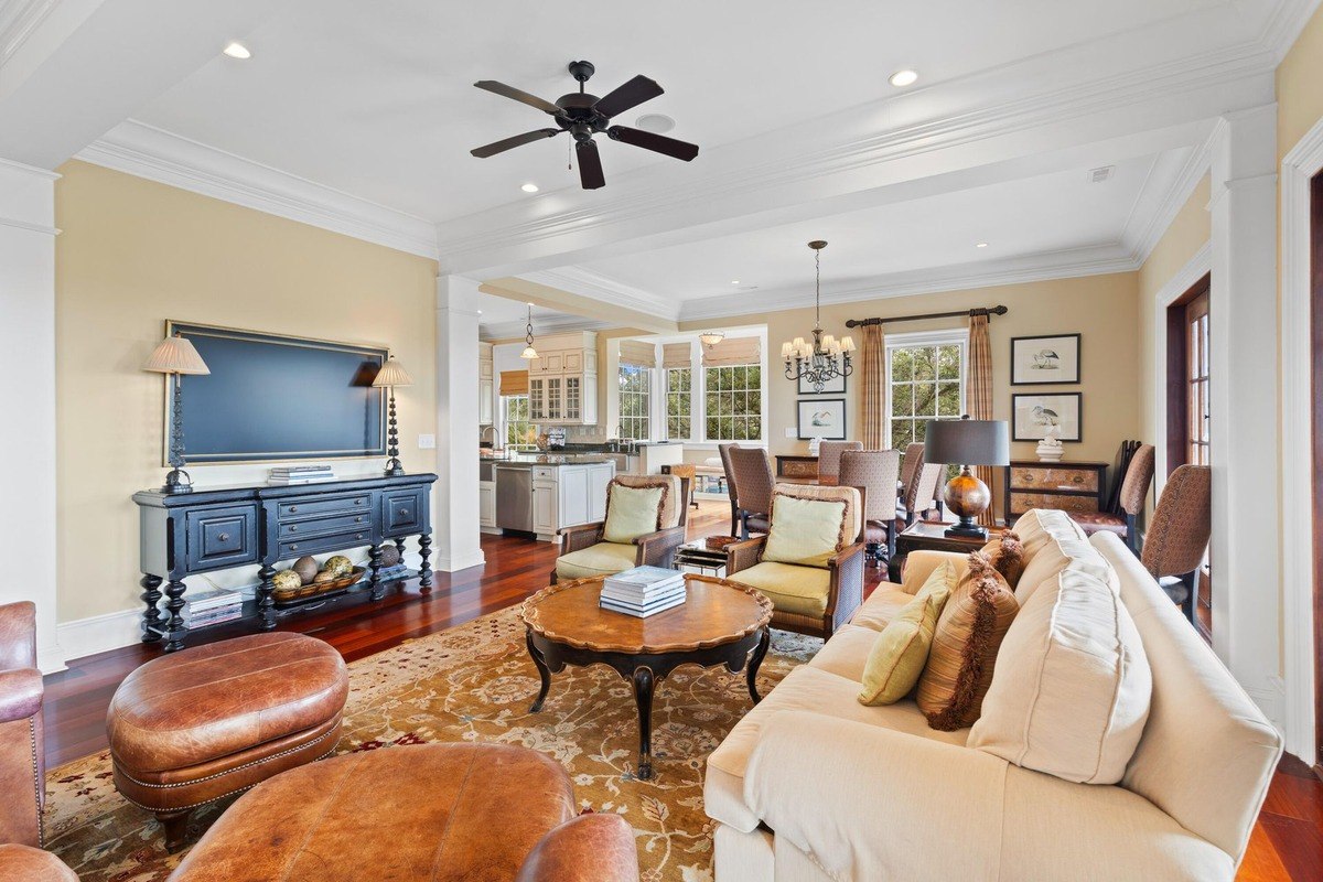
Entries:
{"label": "wood-framed armchair with pale green pillow, closest to the cream sofa", "polygon": [[[824,596],[814,596],[807,602],[803,596],[789,596],[778,591],[782,582],[781,574],[777,571],[765,573],[766,567],[791,566],[804,574],[804,579],[796,579],[800,583],[811,582],[808,577],[814,571],[820,573],[822,570],[812,566],[777,563],[767,563],[763,567],[762,553],[767,545],[767,536],[757,536],[726,546],[726,578],[750,584],[771,599],[771,627],[816,637],[831,637],[849,621],[855,610],[864,602],[864,542],[859,541],[859,537],[863,534],[865,492],[855,487],[796,487],[790,484],[778,484],[775,492],[800,499],[848,500],[844,517],[851,522],[856,541],[844,545],[827,559]],[[775,500],[773,506],[775,506]],[[769,536],[777,530],[775,513],[773,513],[769,529]],[[820,614],[816,612],[818,600],[824,602]],[[811,612],[810,608],[814,611]]]}

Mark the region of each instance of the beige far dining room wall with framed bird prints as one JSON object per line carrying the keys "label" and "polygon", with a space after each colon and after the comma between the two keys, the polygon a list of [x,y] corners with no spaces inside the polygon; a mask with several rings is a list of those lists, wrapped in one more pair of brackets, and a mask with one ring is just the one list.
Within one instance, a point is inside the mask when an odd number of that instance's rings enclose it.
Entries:
{"label": "beige far dining room wall with framed bird prints", "polygon": [[[1084,393],[1084,440],[1066,444],[1068,459],[1095,459],[1113,461],[1122,439],[1135,438],[1139,431],[1139,342],[1135,329],[1138,316],[1138,284],[1134,272],[1097,275],[1082,279],[1060,279],[1008,284],[970,291],[886,298],[849,304],[824,305],[823,329],[840,337],[857,331],[845,328],[847,319],[869,316],[904,316],[934,311],[970,309],[972,307],[1005,304],[1009,313],[994,317],[990,325],[992,342],[992,406],[996,419],[1011,418],[1012,391],[1081,391]],[[741,324],[767,325],[769,344],[769,448],[774,454],[806,452],[808,442],[786,438],[786,428],[795,427],[795,402],[799,398],[794,382],[781,376],[778,360],[781,344],[796,336],[808,336],[814,313],[811,307],[786,309],[757,316],[728,319],[722,327]],[[712,321],[687,323],[681,329],[700,331]],[[963,319],[938,319],[889,325],[892,332],[937,331],[967,327]],[[1081,382],[1078,386],[1016,386],[1011,387],[1011,337],[1076,333],[1082,339]],[[851,377],[847,394],[847,430],[859,438],[861,395],[859,377]],[[1033,458],[1033,443],[1012,444],[1012,456]],[[712,454],[708,454],[709,456]]]}

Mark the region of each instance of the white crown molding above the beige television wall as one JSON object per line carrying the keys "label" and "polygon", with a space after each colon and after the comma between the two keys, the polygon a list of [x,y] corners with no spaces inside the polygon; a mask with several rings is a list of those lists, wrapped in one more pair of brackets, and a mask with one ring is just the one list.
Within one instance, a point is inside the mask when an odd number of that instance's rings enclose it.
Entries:
{"label": "white crown molding above the beige television wall", "polygon": [[431,221],[130,119],[75,155],[86,163],[437,259]]}

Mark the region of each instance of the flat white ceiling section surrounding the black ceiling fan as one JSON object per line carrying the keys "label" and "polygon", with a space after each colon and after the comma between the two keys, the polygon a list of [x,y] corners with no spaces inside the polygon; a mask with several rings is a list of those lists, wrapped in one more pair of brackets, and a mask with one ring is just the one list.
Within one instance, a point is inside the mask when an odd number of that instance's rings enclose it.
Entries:
{"label": "flat white ceiling section surrounding the black ceiling fan", "polygon": [[[472,87],[499,79],[554,100],[573,90],[565,65],[597,65],[597,94],[636,73],[667,94],[631,111],[677,120],[672,136],[704,151],[897,94],[886,77],[922,86],[1085,41],[1148,33],[1218,0],[1000,0],[916,3],[677,0],[631,4],[438,4],[290,0],[245,37],[249,61],[220,54],[135,116],[151,126],[431,221],[527,198],[520,184],[569,188],[568,138],[479,160],[468,149],[540,128],[545,115]],[[1196,22],[1191,21],[1191,25]],[[1222,20],[1185,28],[1183,52],[1225,41]],[[1170,46],[1140,50],[1168,53]],[[591,90],[590,90],[591,91]],[[605,143],[613,176],[676,160]],[[703,165],[704,155],[695,160]]]}

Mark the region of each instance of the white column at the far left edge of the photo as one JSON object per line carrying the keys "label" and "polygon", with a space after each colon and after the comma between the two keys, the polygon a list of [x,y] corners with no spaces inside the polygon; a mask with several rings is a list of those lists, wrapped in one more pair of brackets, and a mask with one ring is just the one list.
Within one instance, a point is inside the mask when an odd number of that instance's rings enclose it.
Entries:
{"label": "white column at the far left edge of the photo", "polygon": [[64,670],[56,639],[56,179],[0,160],[0,536],[22,549],[0,575],[0,603],[37,604],[41,669]]}

